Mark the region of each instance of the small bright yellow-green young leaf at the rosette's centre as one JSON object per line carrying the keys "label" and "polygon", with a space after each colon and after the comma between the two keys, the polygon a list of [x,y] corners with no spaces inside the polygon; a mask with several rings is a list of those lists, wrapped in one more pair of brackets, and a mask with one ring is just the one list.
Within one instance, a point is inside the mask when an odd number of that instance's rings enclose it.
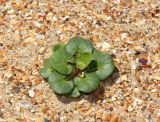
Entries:
{"label": "small bright yellow-green young leaf at the rosette's centre", "polygon": [[79,69],[85,69],[92,61],[92,54],[80,53],[77,55],[76,65]]}

